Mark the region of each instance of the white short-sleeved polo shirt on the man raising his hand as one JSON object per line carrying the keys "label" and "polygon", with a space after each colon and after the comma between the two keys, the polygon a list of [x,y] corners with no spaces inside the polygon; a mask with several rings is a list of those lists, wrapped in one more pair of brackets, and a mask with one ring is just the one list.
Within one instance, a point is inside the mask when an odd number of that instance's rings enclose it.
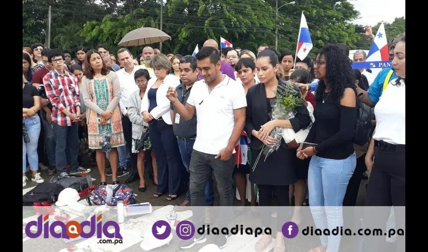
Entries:
{"label": "white short-sleeved polo shirt on the man raising his hand", "polygon": [[242,85],[227,75],[223,77],[211,92],[204,80],[195,82],[187,99],[197,115],[193,149],[206,154],[217,155],[226,148],[235,127],[234,109],[247,106]]}

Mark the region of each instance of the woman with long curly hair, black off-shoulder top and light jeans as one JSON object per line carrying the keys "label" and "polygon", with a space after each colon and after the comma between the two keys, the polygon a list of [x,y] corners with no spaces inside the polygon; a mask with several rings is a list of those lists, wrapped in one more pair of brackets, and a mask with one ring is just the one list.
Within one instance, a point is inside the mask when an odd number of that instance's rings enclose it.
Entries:
{"label": "woman with long curly hair, black off-shoulder top and light jeans", "polygon": [[[335,45],[321,48],[314,61],[319,79],[315,122],[305,142],[315,146],[297,151],[309,163],[309,205],[319,229],[343,225],[342,202],[355,169],[352,136],[356,122],[356,92],[349,58]],[[321,246],[310,252],[339,250],[339,235],[322,235]]]}

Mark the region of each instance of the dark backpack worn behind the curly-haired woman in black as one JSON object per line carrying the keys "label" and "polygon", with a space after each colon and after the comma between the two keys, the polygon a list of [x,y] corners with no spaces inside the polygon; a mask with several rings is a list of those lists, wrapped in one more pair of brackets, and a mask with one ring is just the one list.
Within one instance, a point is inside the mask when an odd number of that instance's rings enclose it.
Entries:
{"label": "dark backpack worn behind the curly-haired woman in black", "polygon": [[[360,96],[363,96],[361,99]],[[364,94],[359,94],[356,102],[356,123],[352,142],[357,145],[365,145],[370,141],[374,126],[372,119],[375,115],[374,108],[362,102]]]}

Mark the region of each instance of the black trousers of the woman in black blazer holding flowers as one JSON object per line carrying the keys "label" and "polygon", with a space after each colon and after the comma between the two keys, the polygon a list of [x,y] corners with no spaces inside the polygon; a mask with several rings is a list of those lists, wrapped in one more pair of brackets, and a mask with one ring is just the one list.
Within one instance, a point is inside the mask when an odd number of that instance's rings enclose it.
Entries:
{"label": "black trousers of the woman in black blazer holding flowers", "polygon": [[277,219],[276,228],[277,231],[281,231],[282,225],[289,221],[289,211],[285,208],[290,206],[289,201],[289,189],[290,185],[266,185],[258,184],[259,190],[259,206],[262,207],[260,211],[261,224],[263,227],[270,227],[271,214],[272,214],[272,195],[276,195],[277,201]]}

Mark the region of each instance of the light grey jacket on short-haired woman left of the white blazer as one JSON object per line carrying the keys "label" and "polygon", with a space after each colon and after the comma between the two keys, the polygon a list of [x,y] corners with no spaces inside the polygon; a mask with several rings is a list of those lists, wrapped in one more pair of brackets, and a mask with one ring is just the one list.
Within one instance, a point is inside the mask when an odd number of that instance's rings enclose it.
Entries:
{"label": "light grey jacket on short-haired woman left of the white blazer", "polygon": [[129,96],[129,107],[128,107],[128,116],[129,120],[132,122],[132,138],[140,139],[143,126],[148,126],[148,123],[142,120],[142,115],[140,113],[141,107],[141,97],[139,96],[139,89],[135,90]]}

